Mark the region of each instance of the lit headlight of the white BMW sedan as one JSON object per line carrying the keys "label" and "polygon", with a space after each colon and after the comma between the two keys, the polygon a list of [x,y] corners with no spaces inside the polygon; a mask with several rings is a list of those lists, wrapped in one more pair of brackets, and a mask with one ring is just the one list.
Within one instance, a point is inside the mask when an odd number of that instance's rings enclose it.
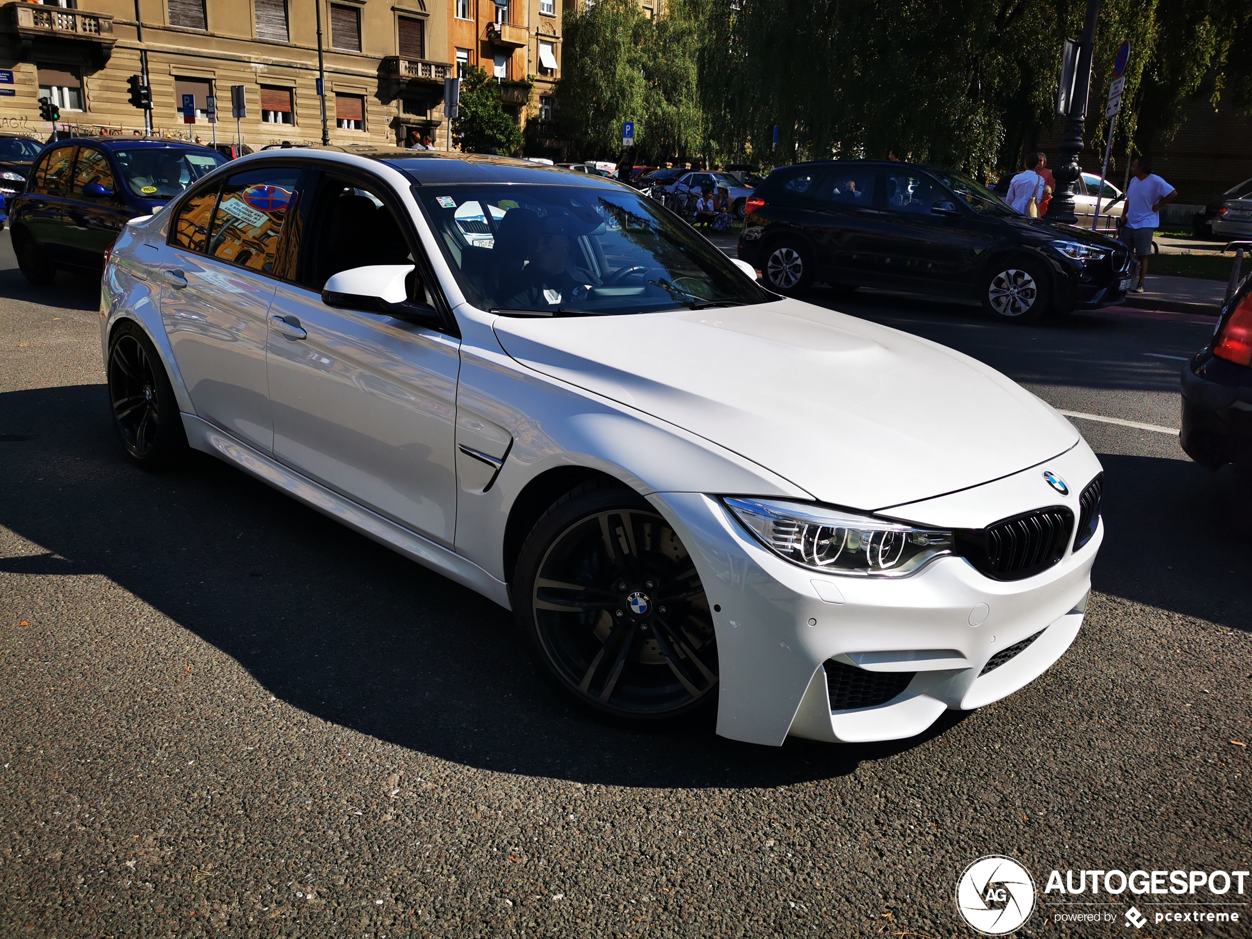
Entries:
{"label": "lit headlight of the white BMW sedan", "polygon": [[903,577],[953,552],[950,531],[776,500],[722,500],[779,557],[823,573]]}

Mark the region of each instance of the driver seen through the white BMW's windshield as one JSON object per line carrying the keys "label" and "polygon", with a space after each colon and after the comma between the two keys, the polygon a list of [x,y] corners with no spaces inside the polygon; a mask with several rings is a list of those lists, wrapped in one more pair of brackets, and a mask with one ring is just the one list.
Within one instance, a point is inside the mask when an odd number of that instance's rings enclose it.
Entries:
{"label": "driver seen through the white BMW's windshield", "polygon": [[510,209],[496,234],[502,249],[498,295],[510,309],[546,309],[587,299],[600,285],[590,272],[571,264],[573,219],[533,209]]}

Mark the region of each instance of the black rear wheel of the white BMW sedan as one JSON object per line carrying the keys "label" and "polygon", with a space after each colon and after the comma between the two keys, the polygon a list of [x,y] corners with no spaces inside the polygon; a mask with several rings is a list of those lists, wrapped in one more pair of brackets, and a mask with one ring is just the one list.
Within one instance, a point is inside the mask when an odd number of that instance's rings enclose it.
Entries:
{"label": "black rear wheel of the white BMW sedan", "polygon": [[187,432],[174,388],[151,339],[123,321],[109,339],[113,426],[131,462],[146,470],[175,466],[187,454]]}

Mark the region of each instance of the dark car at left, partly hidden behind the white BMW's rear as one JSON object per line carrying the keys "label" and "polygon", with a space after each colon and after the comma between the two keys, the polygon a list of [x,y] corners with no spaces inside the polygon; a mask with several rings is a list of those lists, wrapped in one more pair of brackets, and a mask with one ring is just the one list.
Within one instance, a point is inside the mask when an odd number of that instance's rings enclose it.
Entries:
{"label": "dark car at left, partly hidden behind the white BMW's rear", "polygon": [[99,272],[129,219],[150,215],[227,159],[208,146],[106,138],[58,140],[13,200],[18,267],[33,284],[59,268]]}

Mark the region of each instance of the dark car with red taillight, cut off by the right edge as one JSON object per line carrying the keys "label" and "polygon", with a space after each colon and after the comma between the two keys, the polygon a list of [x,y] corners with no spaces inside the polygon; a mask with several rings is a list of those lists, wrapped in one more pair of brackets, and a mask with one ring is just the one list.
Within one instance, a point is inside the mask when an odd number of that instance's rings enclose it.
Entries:
{"label": "dark car with red taillight, cut off by the right edge", "polygon": [[1222,307],[1208,346],[1182,368],[1179,442],[1201,466],[1234,463],[1252,476],[1252,275]]}

